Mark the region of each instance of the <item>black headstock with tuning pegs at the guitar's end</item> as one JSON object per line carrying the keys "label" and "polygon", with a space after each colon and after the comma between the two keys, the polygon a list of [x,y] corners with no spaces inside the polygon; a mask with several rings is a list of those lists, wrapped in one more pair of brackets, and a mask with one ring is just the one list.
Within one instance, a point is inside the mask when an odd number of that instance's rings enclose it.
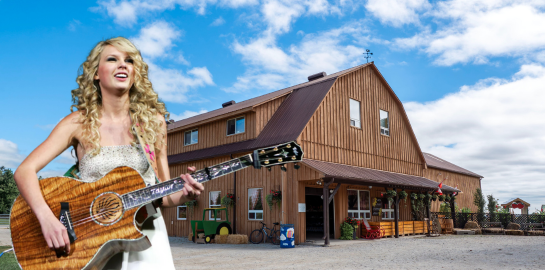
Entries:
{"label": "black headstock with tuning pegs at the guitar's end", "polygon": [[269,167],[303,160],[303,150],[295,142],[279,144],[276,146],[258,149],[254,151],[254,167]]}

